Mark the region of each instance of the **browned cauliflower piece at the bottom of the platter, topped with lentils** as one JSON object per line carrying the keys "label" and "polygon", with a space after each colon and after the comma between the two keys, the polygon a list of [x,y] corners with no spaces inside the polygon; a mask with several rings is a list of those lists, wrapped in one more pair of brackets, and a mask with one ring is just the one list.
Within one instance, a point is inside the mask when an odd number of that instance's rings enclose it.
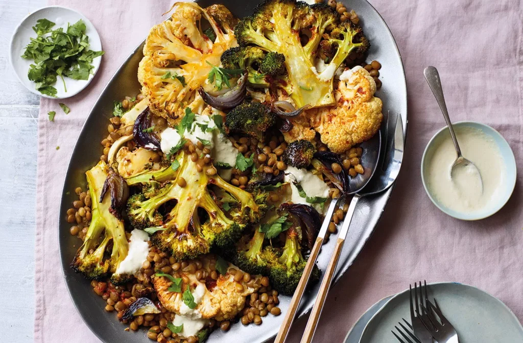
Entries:
{"label": "browned cauliflower piece at the bottom of the platter, topped with lentils", "polygon": [[[205,260],[204,258],[202,259],[202,261]],[[204,262],[203,268],[209,273],[211,272],[209,262]],[[229,268],[238,269],[233,265],[229,265]],[[238,292],[236,289],[236,283],[238,282],[234,281],[234,276],[229,272],[225,275],[220,275],[217,280],[207,279],[206,282],[198,281],[194,274],[183,271],[179,273],[180,277],[185,275],[189,279],[191,290],[196,289],[198,285],[204,285],[205,287],[201,301],[194,308],[196,313],[191,314],[193,317],[214,318],[217,321],[232,319],[243,310],[245,297],[259,289],[259,285],[255,284],[254,287],[248,287],[244,281],[241,281],[243,290]],[[187,284],[183,285],[181,293],[169,292],[168,288],[171,282],[165,277],[155,277],[153,284],[162,305],[170,312],[183,314],[181,313],[184,304],[182,293],[187,289]]]}

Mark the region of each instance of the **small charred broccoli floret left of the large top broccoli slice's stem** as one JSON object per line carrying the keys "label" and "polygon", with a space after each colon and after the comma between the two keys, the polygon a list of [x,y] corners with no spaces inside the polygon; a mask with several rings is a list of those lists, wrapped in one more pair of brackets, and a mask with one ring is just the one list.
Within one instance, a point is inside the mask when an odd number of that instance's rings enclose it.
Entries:
{"label": "small charred broccoli floret left of the large top broccoli slice's stem", "polygon": [[247,70],[250,86],[269,87],[270,77],[285,74],[285,56],[256,47],[234,47],[221,56],[223,67]]}

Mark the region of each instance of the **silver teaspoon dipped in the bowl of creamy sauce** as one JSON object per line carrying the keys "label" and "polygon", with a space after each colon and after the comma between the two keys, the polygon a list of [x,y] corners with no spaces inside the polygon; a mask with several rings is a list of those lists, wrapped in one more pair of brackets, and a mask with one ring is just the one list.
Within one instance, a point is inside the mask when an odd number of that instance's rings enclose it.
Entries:
{"label": "silver teaspoon dipped in the bowl of creamy sauce", "polygon": [[483,193],[483,180],[481,179],[480,170],[477,169],[477,167],[471,161],[463,157],[461,154],[461,149],[459,147],[458,140],[456,139],[456,134],[454,134],[454,129],[452,128],[452,123],[450,122],[449,118],[449,113],[447,112],[447,105],[445,105],[445,97],[443,96],[443,89],[441,88],[441,80],[439,78],[438,70],[433,66],[428,66],[423,71],[423,74],[425,75],[425,79],[427,80],[432,93],[434,93],[434,96],[436,97],[436,101],[438,101],[441,113],[443,113],[443,117],[447,122],[447,127],[449,128],[450,137],[454,143],[454,148],[456,148],[456,154],[458,157],[450,168],[451,180],[454,182],[458,180],[459,186],[464,187],[465,182],[462,182],[463,179],[472,179],[471,176],[474,176],[478,187],[480,187],[480,193]]}

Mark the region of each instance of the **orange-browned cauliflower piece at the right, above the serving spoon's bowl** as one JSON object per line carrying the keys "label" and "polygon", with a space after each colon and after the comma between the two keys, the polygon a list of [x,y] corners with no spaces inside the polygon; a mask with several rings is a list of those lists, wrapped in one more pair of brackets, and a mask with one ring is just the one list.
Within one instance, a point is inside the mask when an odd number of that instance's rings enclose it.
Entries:
{"label": "orange-browned cauliflower piece at the right, above the serving spoon's bowl", "polygon": [[378,132],[383,115],[381,99],[374,97],[375,92],[376,82],[369,72],[356,66],[348,77],[340,77],[335,92],[338,105],[312,110],[311,121],[316,113],[319,116],[314,129],[331,151],[343,153]]}

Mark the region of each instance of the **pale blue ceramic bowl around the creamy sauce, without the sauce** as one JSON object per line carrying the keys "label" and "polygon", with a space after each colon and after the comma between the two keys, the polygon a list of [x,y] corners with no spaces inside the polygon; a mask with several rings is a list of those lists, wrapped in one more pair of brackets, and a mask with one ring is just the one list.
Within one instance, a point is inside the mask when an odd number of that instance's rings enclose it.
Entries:
{"label": "pale blue ceramic bowl around the creamy sauce, without the sauce", "polygon": [[498,201],[491,203],[482,211],[473,213],[463,213],[446,207],[436,197],[432,195],[426,183],[426,167],[428,166],[428,162],[430,161],[430,158],[434,153],[434,148],[438,145],[441,139],[443,139],[447,135],[450,135],[447,127],[444,127],[440,129],[438,132],[436,132],[433,138],[431,138],[428,142],[427,147],[423,152],[421,165],[423,187],[425,187],[425,191],[427,192],[428,197],[436,205],[436,207],[440,209],[442,212],[454,218],[461,220],[480,220],[487,218],[496,213],[497,211],[501,210],[512,195],[512,192],[514,191],[514,188],[516,186],[516,159],[514,158],[514,153],[512,152],[510,145],[508,145],[507,141],[503,138],[503,136],[488,125],[475,121],[459,121],[457,123],[453,123],[452,126],[454,127],[454,129],[459,127],[479,129],[494,140],[494,142],[499,148],[499,152],[501,153],[501,156],[506,166],[506,182],[503,186],[505,189],[502,192],[502,196],[499,197]]}

